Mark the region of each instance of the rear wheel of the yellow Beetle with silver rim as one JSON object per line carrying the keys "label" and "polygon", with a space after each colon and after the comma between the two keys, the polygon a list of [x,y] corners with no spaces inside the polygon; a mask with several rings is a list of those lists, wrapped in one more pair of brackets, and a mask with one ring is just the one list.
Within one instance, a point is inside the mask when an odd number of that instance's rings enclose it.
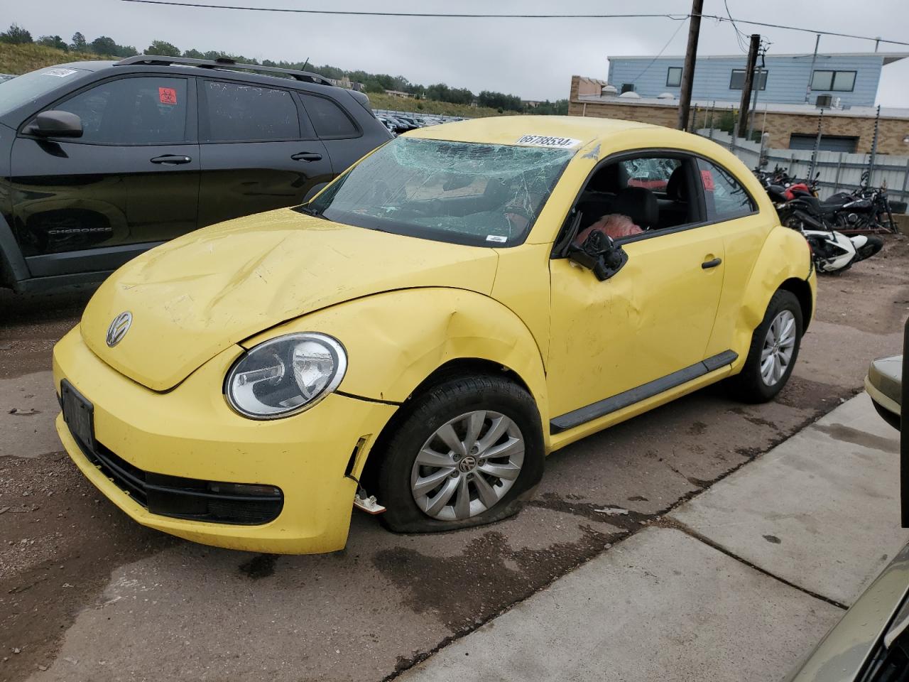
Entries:
{"label": "rear wheel of the yellow Beetle with silver rim", "polygon": [[798,298],[780,289],[754,330],[742,371],[728,380],[733,395],[746,403],[772,400],[793,372],[803,328]]}

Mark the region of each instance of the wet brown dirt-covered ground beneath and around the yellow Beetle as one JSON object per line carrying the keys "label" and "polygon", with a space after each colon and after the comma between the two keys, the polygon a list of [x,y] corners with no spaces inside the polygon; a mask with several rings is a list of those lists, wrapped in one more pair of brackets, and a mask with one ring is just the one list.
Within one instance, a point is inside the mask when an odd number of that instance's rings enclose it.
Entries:
{"label": "wet brown dirt-covered ground beneath and around the yellow Beetle", "polygon": [[404,537],[355,514],[346,549],[322,557],[177,540],[85,482],[55,440],[48,370],[90,295],[0,295],[0,679],[378,680],[659,523],[859,391],[868,361],[901,347],[909,240],[891,237],[881,255],[822,279],[774,403],[705,389],[555,453],[518,517]]}

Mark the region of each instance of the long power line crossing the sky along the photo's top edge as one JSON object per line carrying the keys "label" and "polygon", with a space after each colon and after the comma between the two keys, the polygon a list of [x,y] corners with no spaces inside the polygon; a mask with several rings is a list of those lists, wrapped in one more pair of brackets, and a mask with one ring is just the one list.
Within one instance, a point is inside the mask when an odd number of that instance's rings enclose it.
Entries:
{"label": "long power line crossing the sky along the photo's top edge", "polygon": [[[454,14],[442,12],[365,12],[354,10],[332,10],[332,9],[296,9],[292,7],[250,7],[245,5],[212,5],[206,3],[180,3],[174,0],[120,0],[124,3],[141,3],[144,5],[171,5],[175,7],[201,7],[204,9],[234,9],[248,12],[285,12],[290,14],[301,15],[345,15],[345,16],[411,16],[420,18],[440,18],[440,19],[672,19],[673,21],[684,21],[691,18],[690,14],[569,14],[569,15],[488,15],[488,14]],[[761,21],[748,21],[747,19],[732,19],[729,16],[720,15],[701,15],[704,19],[715,19],[716,21],[736,22],[738,24],[747,24],[753,26],[766,26],[768,28],[781,28],[786,31],[802,31],[804,33],[813,33],[821,35],[834,35],[841,38],[855,38],[856,40],[870,40],[872,42],[887,43],[888,45],[909,45],[909,42],[902,40],[888,40],[886,38],[869,37],[867,35],[854,35],[848,33],[837,33],[835,31],[819,31],[816,28],[805,28],[803,26],[787,26],[783,24],[769,24]]]}

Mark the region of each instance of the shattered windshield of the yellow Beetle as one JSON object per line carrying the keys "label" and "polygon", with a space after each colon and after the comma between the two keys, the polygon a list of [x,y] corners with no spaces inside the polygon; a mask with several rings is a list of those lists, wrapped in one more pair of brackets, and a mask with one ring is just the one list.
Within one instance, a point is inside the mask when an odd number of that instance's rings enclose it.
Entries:
{"label": "shattered windshield of the yellow Beetle", "polygon": [[305,212],[399,235],[514,246],[574,151],[399,137],[339,177]]}

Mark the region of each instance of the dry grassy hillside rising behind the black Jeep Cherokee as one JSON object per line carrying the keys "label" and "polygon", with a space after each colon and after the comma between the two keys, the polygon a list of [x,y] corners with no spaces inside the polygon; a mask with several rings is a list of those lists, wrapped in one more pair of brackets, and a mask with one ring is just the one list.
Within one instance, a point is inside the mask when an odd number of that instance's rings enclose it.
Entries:
{"label": "dry grassy hillside rising behind the black Jeep Cherokee", "polygon": [[[45,47],[44,45],[8,45],[0,43],[0,74],[25,74],[45,66],[63,64],[65,62],[78,62],[84,59],[105,58],[115,59],[116,57],[102,57],[94,53],[64,52],[55,47]],[[485,106],[452,105],[431,99],[401,99],[385,95],[385,93],[368,93],[368,95],[375,109],[413,111],[418,114],[439,114],[470,118],[502,115],[496,109]],[[504,114],[516,114],[516,112],[504,112]]]}

